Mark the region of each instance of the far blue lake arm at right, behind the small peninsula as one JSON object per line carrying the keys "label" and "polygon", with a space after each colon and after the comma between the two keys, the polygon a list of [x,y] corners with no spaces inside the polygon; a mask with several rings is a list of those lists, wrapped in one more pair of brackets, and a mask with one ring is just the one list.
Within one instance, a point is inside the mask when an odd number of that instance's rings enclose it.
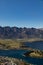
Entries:
{"label": "far blue lake arm at right, behind the small peninsula", "polygon": [[24,44],[26,47],[43,50],[43,41],[37,41],[37,42],[32,42],[32,43],[26,42]]}

